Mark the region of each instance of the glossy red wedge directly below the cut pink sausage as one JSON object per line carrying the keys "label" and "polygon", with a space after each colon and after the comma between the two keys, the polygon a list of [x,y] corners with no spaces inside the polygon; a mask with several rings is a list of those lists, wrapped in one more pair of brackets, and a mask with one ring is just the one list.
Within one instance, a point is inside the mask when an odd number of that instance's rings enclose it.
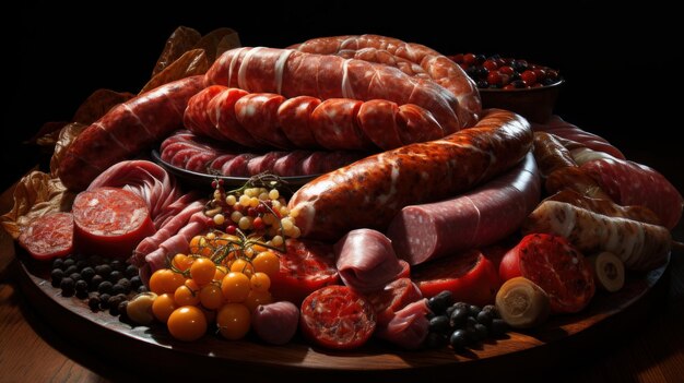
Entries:
{"label": "glossy red wedge directly below the cut pink sausage", "polygon": [[456,301],[479,306],[493,303],[500,286],[496,267],[476,250],[422,264],[412,275],[425,298],[449,290]]}

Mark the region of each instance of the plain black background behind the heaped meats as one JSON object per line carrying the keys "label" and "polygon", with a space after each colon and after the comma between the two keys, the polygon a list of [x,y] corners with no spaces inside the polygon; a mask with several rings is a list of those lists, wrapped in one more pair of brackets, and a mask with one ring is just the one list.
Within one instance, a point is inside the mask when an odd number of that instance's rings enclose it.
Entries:
{"label": "plain black background behind the heaped meats", "polygon": [[446,55],[526,58],[558,68],[566,77],[556,107],[565,119],[669,178],[676,169],[672,164],[683,158],[673,135],[682,128],[684,45],[677,12],[665,5],[453,2],[449,11],[444,2],[423,1],[412,8],[380,3],[375,8],[381,11],[372,11],[367,3],[346,1],[246,3],[189,1],[176,8],[164,2],[143,11],[134,3],[99,1],[79,8],[27,4],[19,14],[7,12],[3,36],[11,46],[3,61],[10,101],[1,134],[9,149],[1,151],[2,189],[37,161],[38,151],[23,141],[46,121],[69,120],[96,88],[135,93],[178,25],[202,34],[229,26],[245,46],[285,47],[317,36],[375,33]]}

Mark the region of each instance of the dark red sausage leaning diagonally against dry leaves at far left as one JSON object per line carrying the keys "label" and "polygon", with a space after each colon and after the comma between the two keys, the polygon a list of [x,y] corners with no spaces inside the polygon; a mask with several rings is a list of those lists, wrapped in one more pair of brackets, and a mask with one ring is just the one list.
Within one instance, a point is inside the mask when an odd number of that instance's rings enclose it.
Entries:
{"label": "dark red sausage leaning diagonally against dry leaves at far left", "polygon": [[62,183],[84,190],[111,165],[181,128],[188,99],[203,87],[202,76],[186,77],[109,110],[67,148],[59,165]]}

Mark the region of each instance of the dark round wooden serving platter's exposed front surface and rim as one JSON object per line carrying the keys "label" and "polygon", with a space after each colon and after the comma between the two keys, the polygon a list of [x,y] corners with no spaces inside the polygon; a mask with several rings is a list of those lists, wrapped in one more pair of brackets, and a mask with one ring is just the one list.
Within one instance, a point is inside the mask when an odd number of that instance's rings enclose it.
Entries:
{"label": "dark round wooden serving platter's exposed front surface and rim", "polygon": [[[2,243],[2,253],[14,250],[8,246],[13,244]],[[193,343],[178,342],[161,324],[131,326],[108,312],[92,312],[75,297],[62,297],[50,285],[49,266],[37,264],[19,247],[16,260],[16,274],[28,302],[80,348],[156,378],[166,373],[175,379],[184,374],[216,378],[229,372],[231,378],[245,376],[252,382],[281,373],[302,380],[325,376],[327,382],[359,378],[408,382],[441,376],[502,378],[521,367],[549,370],[586,347],[609,344],[611,337],[629,331],[627,327],[640,325],[650,310],[649,297],[660,290],[656,287],[662,285],[659,282],[667,268],[628,275],[621,291],[598,291],[579,314],[555,316],[533,331],[509,332],[505,338],[463,352],[449,347],[406,351],[380,340],[353,351],[332,351],[299,337],[286,346],[266,345],[253,337],[229,342],[214,334]]]}

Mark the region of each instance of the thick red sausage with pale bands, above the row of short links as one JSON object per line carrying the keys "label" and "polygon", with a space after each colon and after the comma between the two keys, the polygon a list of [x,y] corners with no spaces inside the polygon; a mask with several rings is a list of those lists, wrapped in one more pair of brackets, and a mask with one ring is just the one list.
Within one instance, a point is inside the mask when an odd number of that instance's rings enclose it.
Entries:
{"label": "thick red sausage with pale bands, above the row of short links", "polygon": [[214,62],[205,82],[286,98],[311,96],[414,104],[432,115],[445,135],[465,127],[458,117],[458,98],[436,82],[412,77],[385,64],[339,56],[264,47],[237,48]]}

